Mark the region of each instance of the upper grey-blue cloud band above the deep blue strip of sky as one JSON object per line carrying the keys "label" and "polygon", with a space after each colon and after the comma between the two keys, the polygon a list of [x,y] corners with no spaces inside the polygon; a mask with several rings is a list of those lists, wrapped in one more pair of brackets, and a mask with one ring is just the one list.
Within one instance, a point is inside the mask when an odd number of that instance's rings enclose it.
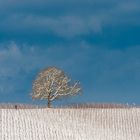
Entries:
{"label": "upper grey-blue cloud band above the deep blue strip of sky", "polygon": [[[140,2],[134,1],[2,1],[0,32],[54,34],[71,38],[116,25],[139,25]],[[18,35],[15,35],[15,40]],[[27,38],[30,40],[30,38]]]}

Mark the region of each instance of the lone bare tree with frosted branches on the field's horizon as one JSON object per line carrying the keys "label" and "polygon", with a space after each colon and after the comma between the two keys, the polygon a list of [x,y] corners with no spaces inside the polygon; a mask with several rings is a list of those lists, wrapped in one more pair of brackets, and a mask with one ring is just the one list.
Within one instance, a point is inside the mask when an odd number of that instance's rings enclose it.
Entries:
{"label": "lone bare tree with frosted branches on the field's horizon", "polygon": [[72,83],[62,70],[56,67],[48,67],[42,70],[33,82],[31,96],[33,99],[46,99],[48,107],[51,107],[53,100],[76,95],[80,91],[79,82]]}

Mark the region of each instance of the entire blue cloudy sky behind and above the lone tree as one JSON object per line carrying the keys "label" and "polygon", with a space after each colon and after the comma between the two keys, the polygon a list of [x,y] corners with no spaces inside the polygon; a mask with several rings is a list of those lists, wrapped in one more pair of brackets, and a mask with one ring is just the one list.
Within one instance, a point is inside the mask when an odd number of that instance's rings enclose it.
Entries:
{"label": "entire blue cloudy sky behind and above the lone tree", "polygon": [[140,104],[139,0],[1,0],[0,102],[32,103],[48,66],[79,80],[62,103]]}

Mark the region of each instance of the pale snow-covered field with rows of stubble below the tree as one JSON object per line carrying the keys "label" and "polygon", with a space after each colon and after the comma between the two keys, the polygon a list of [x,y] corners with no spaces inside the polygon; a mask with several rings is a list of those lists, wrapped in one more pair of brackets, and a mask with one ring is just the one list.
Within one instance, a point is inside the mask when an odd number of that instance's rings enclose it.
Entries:
{"label": "pale snow-covered field with rows of stubble below the tree", "polygon": [[0,109],[0,140],[140,140],[140,108]]}

